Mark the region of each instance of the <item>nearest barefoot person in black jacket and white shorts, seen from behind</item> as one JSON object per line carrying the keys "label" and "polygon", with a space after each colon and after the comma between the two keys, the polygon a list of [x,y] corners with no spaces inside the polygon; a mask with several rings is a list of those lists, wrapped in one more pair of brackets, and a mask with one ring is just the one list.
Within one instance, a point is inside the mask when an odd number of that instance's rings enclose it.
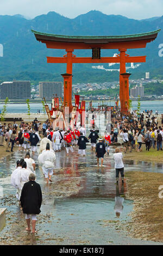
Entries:
{"label": "nearest barefoot person in black jacket and white shorts, seen from behind", "polygon": [[40,208],[42,203],[42,192],[40,185],[35,182],[34,173],[29,175],[29,181],[26,182],[22,188],[20,202],[23,209],[23,214],[26,214],[26,221],[28,226],[26,230],[31,231],[30,218],[32,218],[32,233],[36,233],[36,214],[40,214],[41,212]]}

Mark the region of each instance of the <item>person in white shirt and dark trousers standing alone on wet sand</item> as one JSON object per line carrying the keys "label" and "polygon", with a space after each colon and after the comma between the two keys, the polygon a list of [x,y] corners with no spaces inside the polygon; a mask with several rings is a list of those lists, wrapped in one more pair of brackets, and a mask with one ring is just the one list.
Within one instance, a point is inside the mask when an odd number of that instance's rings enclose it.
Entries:
{"label": "person in white shirt and dark trousers standing alone on wet sand", "polygon": [[124,183],[124,164],[123,164],[123,155],[120,152],[119,148],[115,149],[115,154],[114,156],[114,161],[115,161],[115,169],[116,169],[116,182],[118,184],[119,180],[119,174],[121,173],[121,178],[122,178],[122,184]]}

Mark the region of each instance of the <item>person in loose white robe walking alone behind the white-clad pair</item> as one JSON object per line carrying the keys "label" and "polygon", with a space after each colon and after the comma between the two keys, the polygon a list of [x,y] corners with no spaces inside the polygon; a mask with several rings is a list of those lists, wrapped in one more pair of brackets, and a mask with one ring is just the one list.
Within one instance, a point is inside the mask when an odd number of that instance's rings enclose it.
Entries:
{"label": "person in loose white robe walking alone behind the white-clad pair", "polygon": [[51,176],[54,172],[55,153],[50,151],[49,143],[46,145],[46,151],[43,151],[38,157],[39,163],[42,164],[43,174],[45,175],[46,182],[52,182]]}

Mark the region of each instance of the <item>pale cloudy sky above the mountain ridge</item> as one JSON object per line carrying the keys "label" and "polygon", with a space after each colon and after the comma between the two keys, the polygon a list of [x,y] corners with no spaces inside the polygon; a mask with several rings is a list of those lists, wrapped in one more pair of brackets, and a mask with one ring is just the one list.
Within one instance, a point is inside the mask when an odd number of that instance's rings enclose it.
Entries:
{"label": "pale cloudy sky above the mountain ridge", "polygon": [[55,11],[73,19],[90,10],[141,20],[163,15],[163,0],[0,0],[0,15],[34,17]]}

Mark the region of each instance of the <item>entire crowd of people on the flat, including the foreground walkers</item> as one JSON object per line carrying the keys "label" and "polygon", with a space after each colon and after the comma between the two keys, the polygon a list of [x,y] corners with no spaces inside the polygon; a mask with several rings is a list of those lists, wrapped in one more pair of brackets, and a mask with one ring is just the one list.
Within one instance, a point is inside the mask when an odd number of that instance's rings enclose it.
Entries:
{"label": "entire crowd of people on the flat, including the foreground walkers", "polygon": [[[121,115],[120,111],[114,109],[111,112],[111,120],[106,120],[105,134],[99,137],[99,130],[95,129],[96,116],[92,115],[91,129],[89,136],[86,135],[85,126],[68,127],[67,130],[55,127],[53,130],[49,121],[41,124],[36,118],[32,123],[21,122],[16,124],[5,123],[0,127],[1,145],[5,139],[6,151],[11,147],[13,151],[14,143],[18,144],[19,150],[27,151],[24,159],[16,162],[16,169],[11,174],[11,185],[16,188],[16,198],[21,204],[23,213],[26,214],[27,231],[30,231],[30,218],[32,218],[32,232],[35,233],[36,215],[40,213],[42,193],[40,185],[35,182],[35,161],[30,157],[39,147],[39,165],[42,166],[46,183],[52,182],[55,166],[55,152],[66,151],[66,156],[74,154],[74,148],[78,147],[78,155],[86,156],[86,143],[91,143],[91,151],[97,157],[97,166],[101,160],[103,166],[104,156],[109,155],[110,145],[122,142],[124,153],[131,150],[140,152],[142,143],[145,142],[146,150],[151,148],[162,150],[163,139],[163,114],[161,123],[158,122],[158,112],[152,111],[139,113],[133,111],[129,115]],[[19,131],[18,131],[19,130]],[[31,150],[31,153],[30,151]],[[76,151],[76,150],[75,150]],[[113,154],[116,170],[116,182],[118,184],[119,174],[121,174],[122,185],[124,183],[124,164],[121,148],[115,149]],[[29,200],[29,198],[33,198]],[[30,217],[31,215],[31,217]]]}

